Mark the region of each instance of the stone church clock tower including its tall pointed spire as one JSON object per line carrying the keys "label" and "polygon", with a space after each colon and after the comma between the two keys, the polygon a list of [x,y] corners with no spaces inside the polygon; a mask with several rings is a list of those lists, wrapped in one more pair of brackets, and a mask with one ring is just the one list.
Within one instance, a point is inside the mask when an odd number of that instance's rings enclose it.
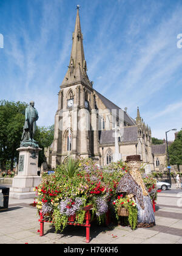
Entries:
{"label": "stone church clock tower including its tall pointed spire", "polygon": [[69,143],[73,158],[99,157],[100,155],[98,133],[96,132],[98,130],[98,115],[95,110],[95,94],[92,82],[87,76],[79,9],[77,9],[72,40],[70,63],[61,84],[58,110],[55,115],[55,134],[52,147],[52,167],[54,168],[64,162],[68,155]]}

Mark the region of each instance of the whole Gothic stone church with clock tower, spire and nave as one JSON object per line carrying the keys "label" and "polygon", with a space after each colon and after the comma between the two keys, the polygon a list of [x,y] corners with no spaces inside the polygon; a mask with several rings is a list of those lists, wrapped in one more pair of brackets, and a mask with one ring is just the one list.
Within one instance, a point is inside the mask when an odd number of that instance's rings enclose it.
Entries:
{"label": "whole Gothic stone church with clock tower, spire and nave", "polygon": [[[47,163],[56,168],[69,155],[90,157],[108,165],[127,155],[140,154],[146,171],[153,171],[151,130],[140,116],[133,119],[124,110],[95,90],[87,76],[83,34],[77,8],[72,51],[67,73],[58,94],[52,145],[45,149]],[[119,158],[116,157],[119,155]]]}

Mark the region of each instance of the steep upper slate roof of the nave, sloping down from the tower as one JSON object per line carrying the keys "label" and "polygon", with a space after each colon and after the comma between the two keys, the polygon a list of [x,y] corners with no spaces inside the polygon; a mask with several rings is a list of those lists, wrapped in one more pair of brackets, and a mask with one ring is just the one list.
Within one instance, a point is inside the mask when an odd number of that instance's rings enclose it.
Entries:
{"label": "steep upper slate roof of the nave, sloping down from the tower", "polygon": [[[113,102],[109,101],[109,99],[107,99],[106,97],[104,97],[102,94],[98,93],[98,91],[96,91],[96,94],[98,95],[98,97],[101,99],[101,101],[103,102],[103,104],[106,106],[107,109],[110,110],[110,112],[112,112],[112,109],[116,109],[116,115],[119,115],[119,110],[121,111],[122,109],[120,107],[118,107],[117,105],[115,105]],[[135,126],[136,122],[133,118],[131,118],[127,112],[124,112],[124,122],[126,122],[127,124],[129,124],[130,126]]]}

